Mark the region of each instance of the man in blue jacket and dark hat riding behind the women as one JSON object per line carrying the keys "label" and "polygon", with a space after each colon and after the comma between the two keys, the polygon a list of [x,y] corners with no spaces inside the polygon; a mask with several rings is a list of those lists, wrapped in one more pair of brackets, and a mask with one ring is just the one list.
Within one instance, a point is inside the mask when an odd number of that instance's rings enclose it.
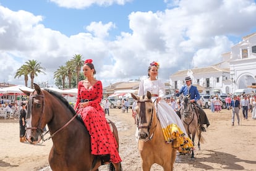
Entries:
{"label": "man in blue jacket and dark hat riding behind the women", "polygon": [[[176,94],[176,96],[179,96],[180,94],[183,94],[184,96],[190,94],[190,102],[195,102],[197,104],[197,101],[200,99],[200,94],[197,90],[196,86],[191,85],[192,80],[190,77],[185,78],[186,85],[182,86],[181,90],[179,90],[179,93]],[[207,127],[209,127],[210,123],[208,121],[207,115],[205,114],[205,111],[197,104],[198,111],[199,111],[199,122],[200,122],[200,128],[202,131],[206,131],[205,127],[203,127],[203,124],[206,124]]]}

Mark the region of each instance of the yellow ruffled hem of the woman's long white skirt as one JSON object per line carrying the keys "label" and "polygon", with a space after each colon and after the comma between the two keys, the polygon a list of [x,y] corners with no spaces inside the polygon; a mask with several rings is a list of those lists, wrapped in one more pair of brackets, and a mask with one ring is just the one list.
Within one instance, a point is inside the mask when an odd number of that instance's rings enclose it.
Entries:
{"label": "yellow ruffled hem of the woman's long white skirt", "polygon": [[162,128],[163,136],[166,143],[172,143],[173,148],[176,148],[179,152],[190,152],[194,145],[189,137],[185,136],[183,131],[176,125],[171,124],[166,128]]}

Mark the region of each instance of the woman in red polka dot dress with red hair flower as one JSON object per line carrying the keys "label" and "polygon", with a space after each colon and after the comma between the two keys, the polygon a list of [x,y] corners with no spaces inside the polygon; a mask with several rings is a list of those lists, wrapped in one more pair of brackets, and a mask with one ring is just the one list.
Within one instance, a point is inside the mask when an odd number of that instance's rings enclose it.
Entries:
{"label": "woman in red polka dot dress with red hair flower", "polygon": [[94,155],[110,154],[110,161],[121,162],[117,143],[100,106],[103,95],[102,83],[95,80],[96,73],[92,59],[85,60],[83,74],[86,80],[79,81],[75,109],[81,115],[85,127],[91,136],[91,151]]}

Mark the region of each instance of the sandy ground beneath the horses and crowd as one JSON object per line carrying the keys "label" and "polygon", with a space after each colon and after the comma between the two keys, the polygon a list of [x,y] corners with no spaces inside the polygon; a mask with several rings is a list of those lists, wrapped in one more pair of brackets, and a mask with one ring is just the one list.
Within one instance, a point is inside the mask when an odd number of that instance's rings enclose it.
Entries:
{"label": "sandy ground beneath the horses and crowd", "polygon": [[[205,111],[211,123],[203,133],[205,143],[201,144],[200,151],[195,149],[194,160],[177,155],[174,170],[256,170],[256,120],[251,119],[251,114],[241,125],[236,122],[231,126],[228,110],[221,113]],[[131,111],[122,113],[121,109],[110,109],[110,113],[106,117],[116,123],[119,131],[123,169],[141,170]],[[51,140],[38,145],[20,143],[19,123],[12,119],[0,119],[0,133],[0,170],[51,170],[48,167]],[[101,166],[100,170],[107,170],[106,166]],[[151,170],[163,169],[155,164]]]}

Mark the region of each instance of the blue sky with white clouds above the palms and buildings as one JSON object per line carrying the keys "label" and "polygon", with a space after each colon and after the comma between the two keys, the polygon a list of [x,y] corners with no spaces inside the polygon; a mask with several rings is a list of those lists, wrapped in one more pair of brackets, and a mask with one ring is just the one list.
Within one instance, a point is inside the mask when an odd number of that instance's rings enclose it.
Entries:
{"label": "blue sky with white clouds above the palms and buildings", "polygon": [[[242,37],[256,32],[252,0],[0,0],[0,83],[28,60],[45,73],[35,83],[54,86],[54,72],[81,54],[93,59],[103,87],[222,61]],[[30,85],[30,79],[28,80]]]}

